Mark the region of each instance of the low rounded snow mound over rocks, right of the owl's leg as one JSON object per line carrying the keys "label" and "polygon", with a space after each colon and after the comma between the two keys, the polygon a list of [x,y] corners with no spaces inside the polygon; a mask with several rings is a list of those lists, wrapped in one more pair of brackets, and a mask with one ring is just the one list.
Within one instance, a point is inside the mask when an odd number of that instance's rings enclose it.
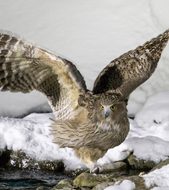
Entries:
{"label": "low rounded snow mound over rocks, right of the owl's leg", "polygon": [[132,137],[126,139],[121,145],[109,149],[103,158],[100,158],[97,163],[104,165],[124,160],[130,153],[143,160],[151,160],[156,163],[165,160],[169,157],[169,142],[158,137]]}

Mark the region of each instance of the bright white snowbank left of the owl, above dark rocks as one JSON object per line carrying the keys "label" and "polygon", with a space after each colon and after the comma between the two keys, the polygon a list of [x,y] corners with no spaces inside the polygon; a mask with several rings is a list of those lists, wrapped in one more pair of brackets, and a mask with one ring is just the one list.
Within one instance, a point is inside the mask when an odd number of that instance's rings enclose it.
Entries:
{"label": "bright white snowbank left of the owl, above dark rocks", "polygon": [[31,114],[24,119],[0,118],[0,149],[22,150],[36,160],[63,160],[66,170],[84,165],[70,148],[52,142],[52,114]]}

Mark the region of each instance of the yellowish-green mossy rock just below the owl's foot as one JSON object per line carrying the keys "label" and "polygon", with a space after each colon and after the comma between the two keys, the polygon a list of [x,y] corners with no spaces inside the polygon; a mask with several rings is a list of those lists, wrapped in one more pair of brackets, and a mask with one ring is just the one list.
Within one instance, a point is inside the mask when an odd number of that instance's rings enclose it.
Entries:
{"label": "yellowish-green mossy rock just below the owl's foot", "polygon": [[81,173],[77,176],[73,185],[75,187],[94,187],[99,183],[108,182],[113,180],[113,175],[111,174],[91,174],[91,173]]}

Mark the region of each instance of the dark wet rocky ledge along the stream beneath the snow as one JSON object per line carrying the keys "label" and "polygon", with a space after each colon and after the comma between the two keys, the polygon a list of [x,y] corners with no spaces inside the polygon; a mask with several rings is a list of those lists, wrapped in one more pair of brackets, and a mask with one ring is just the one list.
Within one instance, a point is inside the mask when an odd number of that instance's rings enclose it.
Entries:
{"label": "dark wet rocky ledge along the stream beneath the snow", "polygon": [[[0,168],[54,171],[71,176],[69,179],[61,180],[51,188],[53,190],[103,190],[108,186],[120,184],[124,180],[133,182],[134,189],[146,190],[150,187],[145,185],[143,176],[168,164],[169,159],[157,164],[153,161],[140,160],[135,155],[130,154],[123,161],[105,165],[102,172],[96,175],[89,173],[87,169],[67,172],[62,161],[36,161],[21,151],[6,150],[0,152]],[[37,188],[37,190],[40,189],[46,188],[42,186]]]}

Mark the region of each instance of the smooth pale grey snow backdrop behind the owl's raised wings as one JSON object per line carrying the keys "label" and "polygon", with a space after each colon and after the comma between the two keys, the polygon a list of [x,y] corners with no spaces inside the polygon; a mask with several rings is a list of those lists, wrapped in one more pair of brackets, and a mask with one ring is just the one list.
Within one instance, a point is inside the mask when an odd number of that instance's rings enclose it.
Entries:
{"label": "smooth pale grey snow backdrop behind the owl's raised wings", "polygon": [[[92,89],[112,59],[169,28],[168,6],[168,0],[17,0],[15,4],[0,0],[0,23],[1,29],[73,61]],[[169,46],[153,76],[130,96],[129,114],[135,114],[150,95],[168,89],[168,50]],[[39,110],[50,110],[40,93],[0,92],[1,116]]]}

